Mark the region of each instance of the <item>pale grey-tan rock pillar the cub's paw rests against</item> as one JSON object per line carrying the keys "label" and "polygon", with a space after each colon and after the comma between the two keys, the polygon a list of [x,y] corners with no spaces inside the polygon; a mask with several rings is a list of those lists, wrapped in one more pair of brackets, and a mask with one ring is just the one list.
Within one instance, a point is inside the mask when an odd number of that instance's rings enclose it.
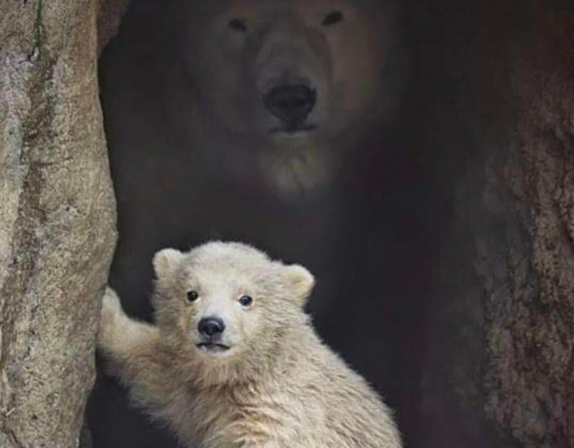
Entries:
{"label": "pale grey-tan rock pillar the cub's paw rests against", "polygon": [[115,202],[95,0],[0,3],[0,447],[75,447]]}

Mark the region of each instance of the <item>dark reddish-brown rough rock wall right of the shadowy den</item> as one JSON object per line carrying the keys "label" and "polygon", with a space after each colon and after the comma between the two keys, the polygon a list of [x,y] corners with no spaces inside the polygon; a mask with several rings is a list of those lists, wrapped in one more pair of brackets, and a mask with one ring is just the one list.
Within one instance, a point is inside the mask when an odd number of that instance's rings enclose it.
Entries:
{"label": "dark reddish-brown rough rock wall right of the shadowy den", "polygon": [[423,445],[572,448],[574,6],[440,5],[455,188]]}

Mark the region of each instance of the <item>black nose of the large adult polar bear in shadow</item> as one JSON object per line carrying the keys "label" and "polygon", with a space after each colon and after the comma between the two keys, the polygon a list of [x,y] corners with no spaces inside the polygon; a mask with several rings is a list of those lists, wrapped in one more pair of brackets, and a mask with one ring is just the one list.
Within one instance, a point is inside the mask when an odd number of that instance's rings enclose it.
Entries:
{"label": "black nose of the large adult polar bear in shadow", "polygon": [[306,85],[278,85],[263,97],[263,103],[288,127],[302,124],[313,110],[317,92]]}

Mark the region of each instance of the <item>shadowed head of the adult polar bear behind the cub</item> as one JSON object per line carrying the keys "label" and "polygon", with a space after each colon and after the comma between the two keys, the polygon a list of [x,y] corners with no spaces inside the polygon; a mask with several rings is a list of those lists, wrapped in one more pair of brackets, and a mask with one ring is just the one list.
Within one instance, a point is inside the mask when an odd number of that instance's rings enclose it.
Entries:
{"label": "shadowed head of the adult polar bear behind the cub", "polygon": [[336,158],[334,142],[363,132],[395,100],[390,0],[182,3],[178,53],[201,114],[257,139],[283,189],[317,183]]}

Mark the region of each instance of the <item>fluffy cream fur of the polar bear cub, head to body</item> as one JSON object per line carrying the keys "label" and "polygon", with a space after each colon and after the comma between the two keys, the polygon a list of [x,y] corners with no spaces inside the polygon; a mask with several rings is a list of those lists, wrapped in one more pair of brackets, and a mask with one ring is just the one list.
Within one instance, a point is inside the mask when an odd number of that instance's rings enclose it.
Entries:
{"label": "fluffy cream fur of the polar bear cub, head to body", "polygon": [[[154,269],[156,326],[130,319],[107,289],[98,345],[134,402],[187,447],[401,446],[386,405],[312,329],[302,305],[314,279],[304,267],[208,242],[162,250]],[[253,304],[240,304],[243,295]],[[196,346],[208,316],[225,322],[227,351]]]}

